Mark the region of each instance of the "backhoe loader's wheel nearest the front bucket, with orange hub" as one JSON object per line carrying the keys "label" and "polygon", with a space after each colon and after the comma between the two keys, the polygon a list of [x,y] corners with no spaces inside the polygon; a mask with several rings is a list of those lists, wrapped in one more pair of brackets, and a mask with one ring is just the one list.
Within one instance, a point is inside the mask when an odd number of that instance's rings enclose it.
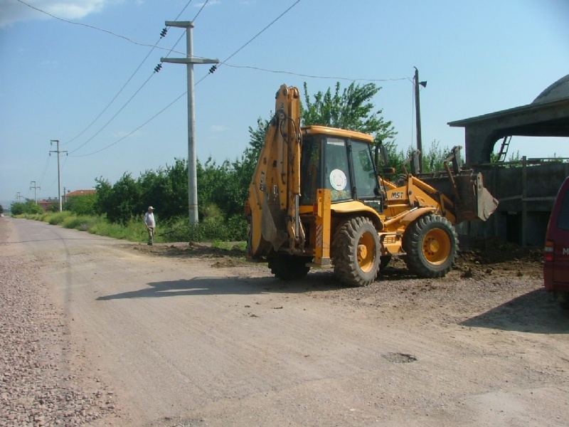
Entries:
{"label": "backhoe loader's wheel nearest the front bucket, with orange hub", "polygon": [[407,268],[420,278],[442,278],[457,258],[458,236],[440,215],[421,216],[403,234]]}

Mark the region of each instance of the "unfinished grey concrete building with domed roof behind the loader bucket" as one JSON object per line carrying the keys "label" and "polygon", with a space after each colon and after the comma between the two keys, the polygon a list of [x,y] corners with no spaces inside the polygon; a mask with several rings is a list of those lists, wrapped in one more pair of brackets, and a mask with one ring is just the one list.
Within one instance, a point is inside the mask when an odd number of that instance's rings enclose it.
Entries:
{"label": "unfinished grey concrete building with domed roof behind the loader bucket", "polygon": [[[543,246],[555,195],[569,176],[569,159],[523,157],[516,164],[504,160],[509,138],[514,135],[569,137],[569,75],[543,90],[531,104],[449,125],[464,127],[466,164],[482,172],[484,185],[500,202],[489,221],[464,224],[459,232]],[[491,154],[500,139],[498,162],[491,164]]]}

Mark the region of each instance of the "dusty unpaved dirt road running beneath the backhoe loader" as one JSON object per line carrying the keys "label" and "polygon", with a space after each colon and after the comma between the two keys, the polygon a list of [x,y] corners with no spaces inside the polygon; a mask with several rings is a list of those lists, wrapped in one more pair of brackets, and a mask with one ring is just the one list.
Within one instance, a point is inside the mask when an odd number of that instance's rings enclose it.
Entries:
{"label": "dusty unpaved dirt road running beneath the backhoe loader", "polygon": [[[394,263],[370,287],[346,288],[327,271],[285,283],[229,252],[0,219],[0,287],[32,291],[33,310],[48,311],[26,332],[38,335],[39,362],[30,360],[41,367],[27,381],[61,376],[70,399],[82,399],[62,423],[569,422],[569,313],[542,289],[538,255],[487,248],[441,280]],[[488,260],[491,251],[507,256]],[[10,310],[18,304],[2,306],[0,321]],[[24,369],[11,368],[12,353],[26,352],[25,341],[0,350],[0,426],[27,425],[14,411],[48,411],[14,403],[26,385],[14,385]]]}

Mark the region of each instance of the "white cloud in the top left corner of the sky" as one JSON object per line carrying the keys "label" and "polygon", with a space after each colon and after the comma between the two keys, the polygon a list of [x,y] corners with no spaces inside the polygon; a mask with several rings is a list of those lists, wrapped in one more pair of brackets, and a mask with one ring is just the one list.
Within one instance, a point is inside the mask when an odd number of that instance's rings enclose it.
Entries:
{"label": "white cloud in the top left corner of the sky", "polygon": [[[18,21],[48,19],[52,14],[63,19],[82,19],[101,11],[109,0],[0,0],[0,27]],[[32,7],[30,7],[32,6]],[[36,9],[39,10],[36,10]],[[46,13],[42,13],[44,11]]]}

